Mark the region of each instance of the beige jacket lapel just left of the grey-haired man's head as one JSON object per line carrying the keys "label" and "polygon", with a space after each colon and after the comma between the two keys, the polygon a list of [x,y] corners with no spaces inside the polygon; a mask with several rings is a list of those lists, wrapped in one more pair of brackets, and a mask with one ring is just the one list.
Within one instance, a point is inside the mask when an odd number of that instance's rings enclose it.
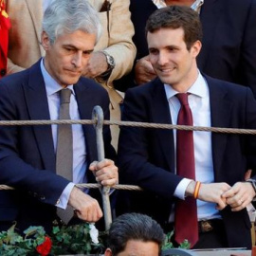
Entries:
{"label": "beige jacket lapel just left of the grey-haired man's head", "polygon": [[[38,44],[41,42],[41,29],[43,21],[43,0],[26,0],[27,9],[31,15],[31,19],[35,28]],[[45,55],[45,50],[40,46],[41,56]]]}

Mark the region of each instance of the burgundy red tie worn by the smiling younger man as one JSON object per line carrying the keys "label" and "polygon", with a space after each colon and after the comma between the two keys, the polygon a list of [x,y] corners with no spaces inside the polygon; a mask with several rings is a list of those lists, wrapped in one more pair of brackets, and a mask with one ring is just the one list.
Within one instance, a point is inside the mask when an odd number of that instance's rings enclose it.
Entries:
{"label": "burgundy red tie worn by the smiling younger man", "polygon": [[[176,97],[181,104],[177,124],[192,125],[188,94],[179,93]],[[182,177],[195,179],[192,131],[176,131],[176,172]],[[192,196],[177,200],[174,233],[175,241],[179,244],[188,239],[193,247],[198,240],[196,200]]]}

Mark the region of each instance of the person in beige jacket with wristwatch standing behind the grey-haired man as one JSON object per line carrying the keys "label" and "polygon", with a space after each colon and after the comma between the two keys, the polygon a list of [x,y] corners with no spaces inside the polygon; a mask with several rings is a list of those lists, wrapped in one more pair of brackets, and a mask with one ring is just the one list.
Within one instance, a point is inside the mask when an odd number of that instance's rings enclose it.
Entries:
{"label": "person in beige jacket with wristwatch standing behind the grey-haired man", "polygon": [[[6,0],[12,27],[9,30],[8,74],[35,64],[45,55],[40,44],[43,12],[51,0]],[[103,32],[94,53],[83,69],[108,91],[111,119],[120,119],[122,95],[113,81],[127,74],[133,66],[136,47],[132,41],[134,27],[130,19],[129,0],[88,0],[101,19]],[[116,147],[119,127],[111,126],[112,143]]]}

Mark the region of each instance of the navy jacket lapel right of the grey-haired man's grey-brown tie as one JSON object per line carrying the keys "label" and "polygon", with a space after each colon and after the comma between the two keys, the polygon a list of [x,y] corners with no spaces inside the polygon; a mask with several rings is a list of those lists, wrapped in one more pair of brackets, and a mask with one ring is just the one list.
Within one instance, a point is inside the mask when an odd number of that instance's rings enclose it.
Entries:
{"label": "navy jacket lapel right of the grey-haired man's grey-brown tie", "polygon": [[[94,107],[94,100],[88,86],[82,84],[79,81],[74,85],[74,90],[76,93],[76,99],[78,101],[79,113],[81,119],[92,119],[92,110]],[[85,137],[87,162],[96,160],[97,155],[96,148],[96,133],[94,126],[91,124],[82,125],[82,130]]]}

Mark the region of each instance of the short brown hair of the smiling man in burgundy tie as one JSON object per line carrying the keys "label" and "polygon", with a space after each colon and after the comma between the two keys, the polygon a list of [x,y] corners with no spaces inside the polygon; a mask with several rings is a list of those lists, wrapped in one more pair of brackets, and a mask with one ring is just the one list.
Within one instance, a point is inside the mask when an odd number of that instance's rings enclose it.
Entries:
{"label": "short brown hair of the smiling man in burgundy tie", "polygon": [[156,9],[149,17],[146,24],[146,34],[155,32],[160,28],[183,28],[184,41],[187,49],[197,41],[202,41],[202,25],[198,13],[183,6],[170,6]]}

